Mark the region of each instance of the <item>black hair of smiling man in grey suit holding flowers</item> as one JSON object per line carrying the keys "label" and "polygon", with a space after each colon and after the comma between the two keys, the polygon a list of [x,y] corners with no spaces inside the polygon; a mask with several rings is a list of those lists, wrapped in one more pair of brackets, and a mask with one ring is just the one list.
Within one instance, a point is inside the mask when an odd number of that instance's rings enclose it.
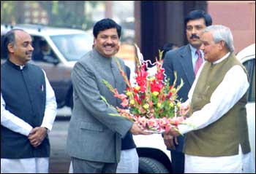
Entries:
{"label": "black hair of smiling man in grey suit holding flowers", "polygon": [[110,28],[116,28],[116,31],[118,33],[118,38],[121,36],[121,26],[118,25],[114,20],[111,20],[110,18],[105,18],[102,20],[99,20],[94,25],[94,38],[97,38],[99,31],[105,31]]}

